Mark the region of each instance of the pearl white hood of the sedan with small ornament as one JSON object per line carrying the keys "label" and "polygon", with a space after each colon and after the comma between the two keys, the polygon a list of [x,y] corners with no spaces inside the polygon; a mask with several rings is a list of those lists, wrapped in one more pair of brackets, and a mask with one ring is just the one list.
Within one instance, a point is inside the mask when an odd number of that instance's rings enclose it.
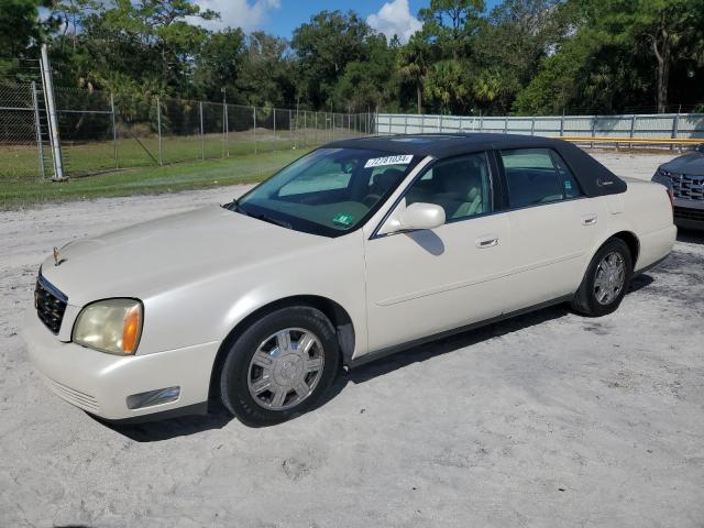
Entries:
{"label": "pearl white hood of the sedan with small ornament", "polygon": [[42,274],[74,306],[109,297],[147,299],[330,241],[212,206],[70,242],[59,250],[61,264],[50,256]]}

